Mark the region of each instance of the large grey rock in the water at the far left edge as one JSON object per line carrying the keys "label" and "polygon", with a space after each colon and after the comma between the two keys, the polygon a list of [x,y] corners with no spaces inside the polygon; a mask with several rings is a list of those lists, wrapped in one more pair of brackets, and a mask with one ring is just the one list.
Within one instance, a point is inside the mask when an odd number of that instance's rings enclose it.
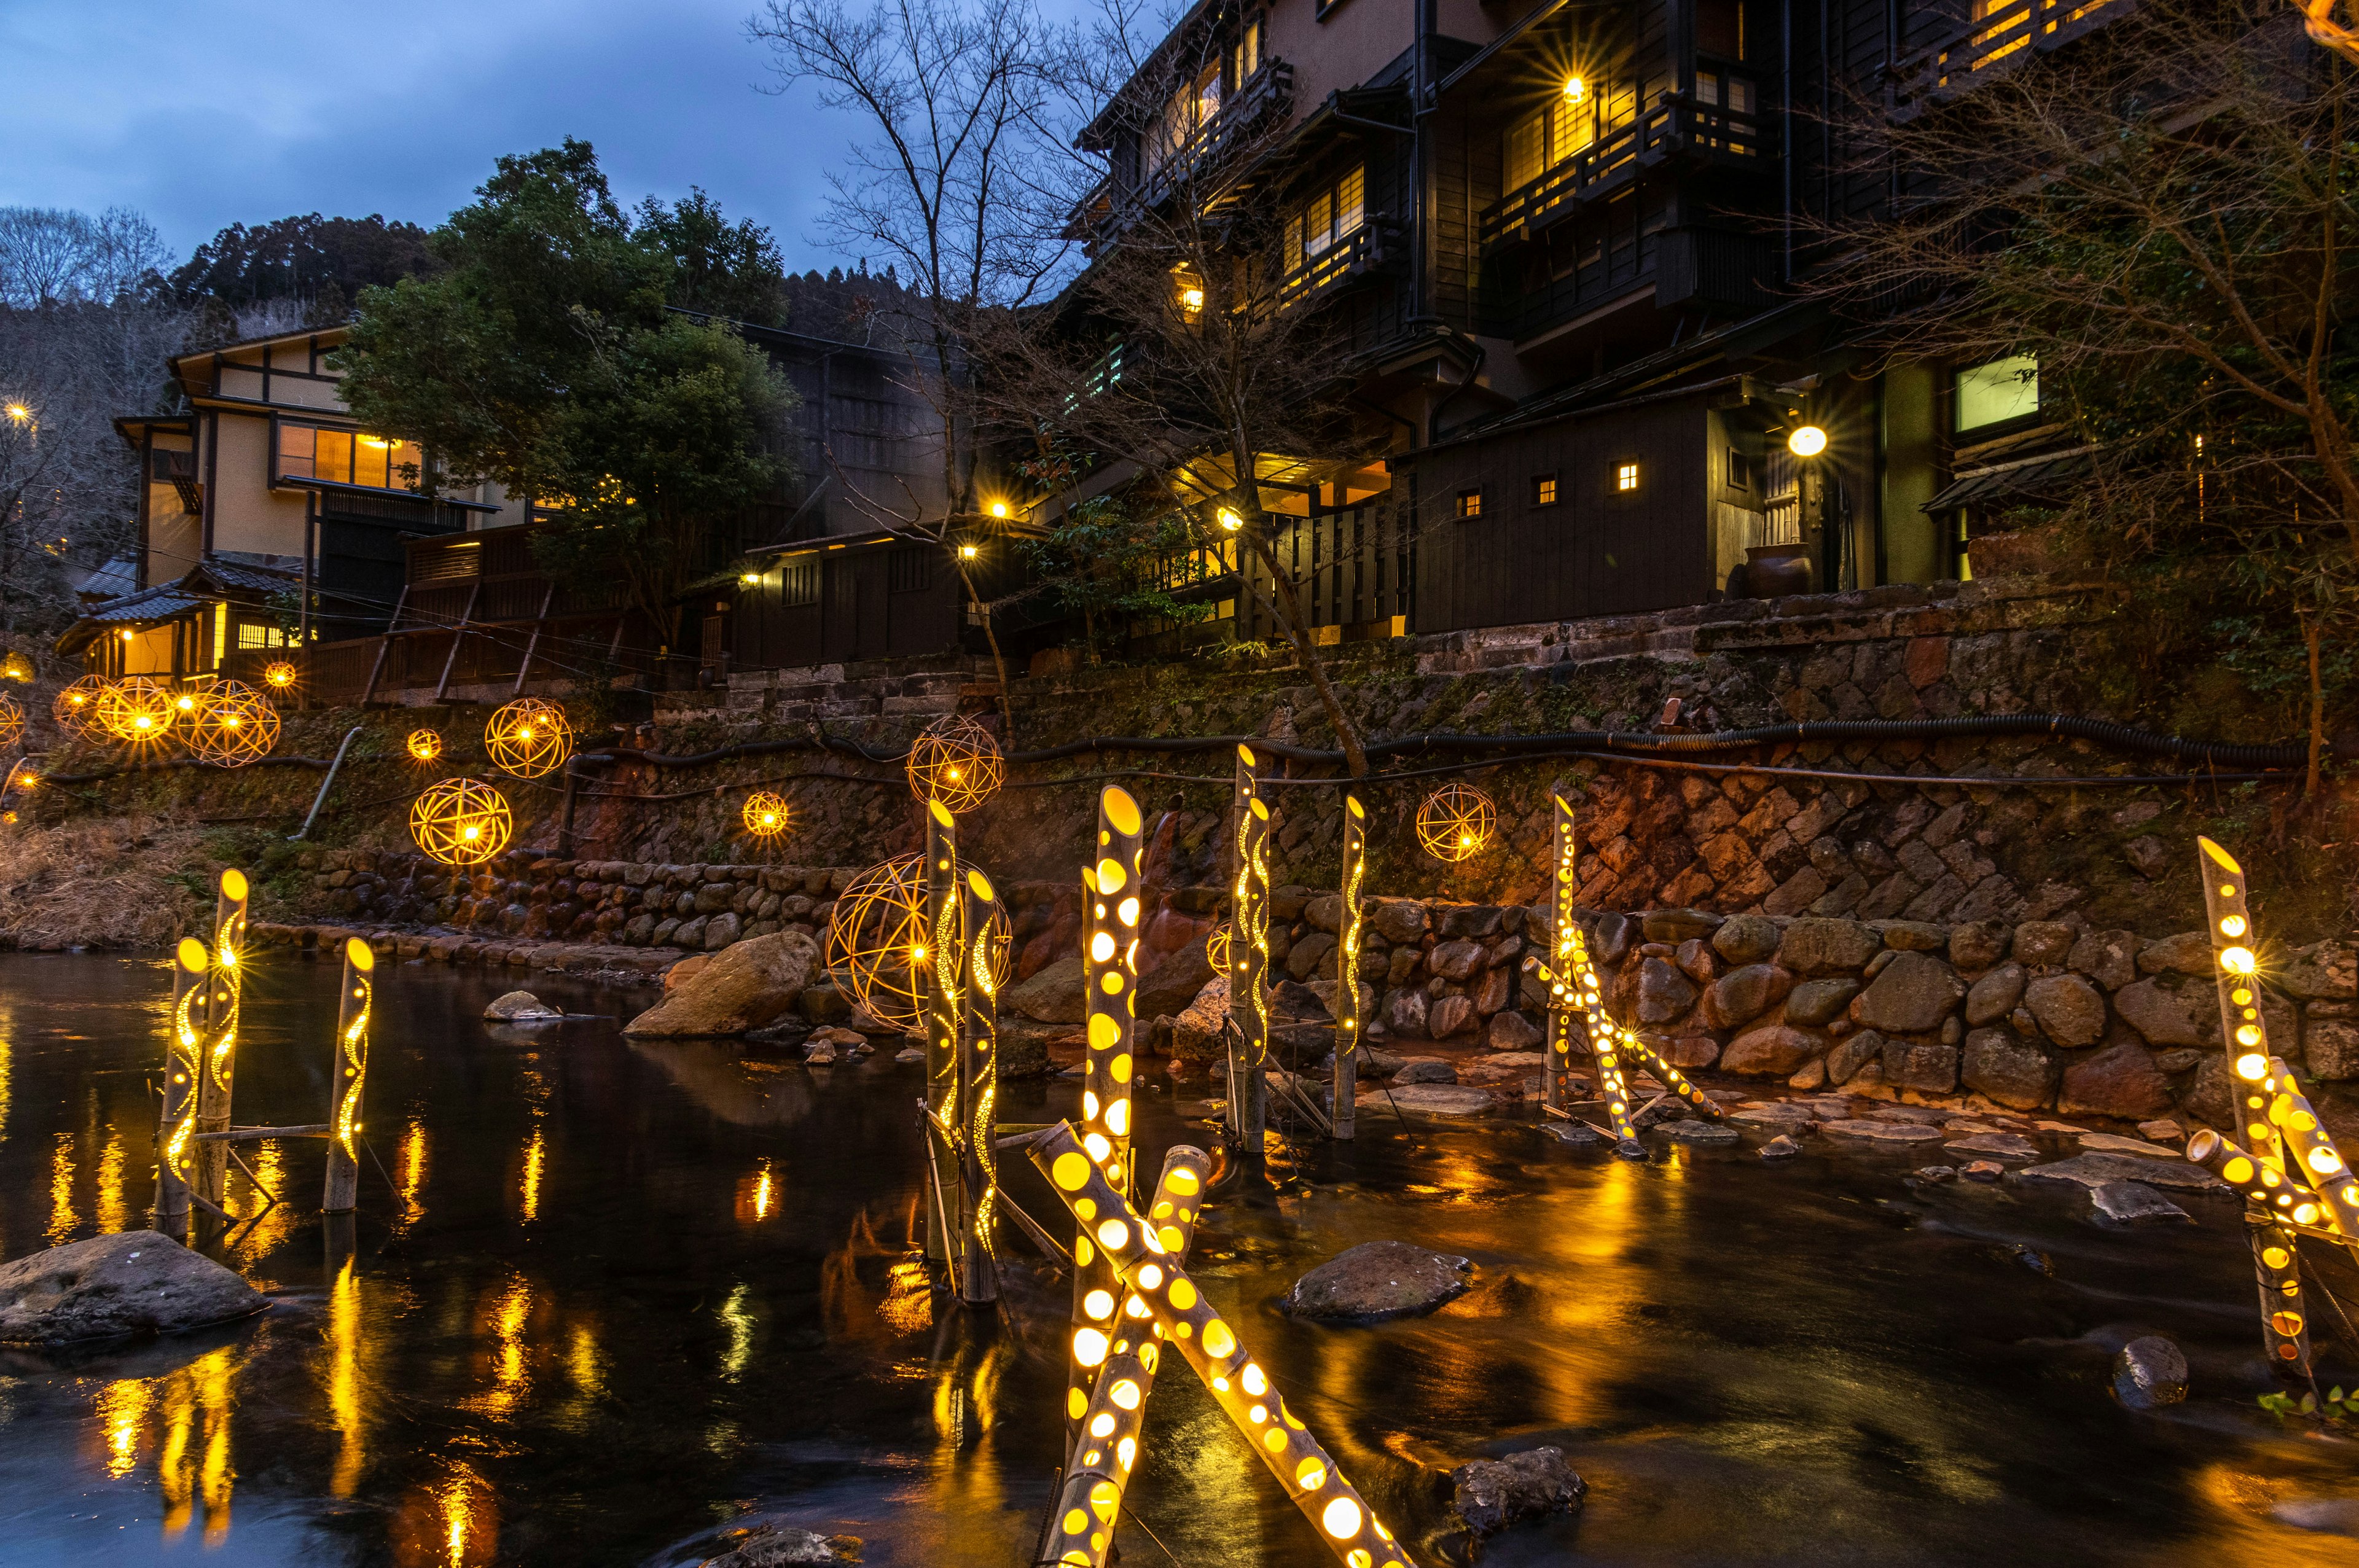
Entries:
{"label": "large grey rock in the water at the far left edge", "polygon": [[0,1266],[0,1344],[177,1335],[264,1306],[236,1273],[156,1231],[92,1236]]}

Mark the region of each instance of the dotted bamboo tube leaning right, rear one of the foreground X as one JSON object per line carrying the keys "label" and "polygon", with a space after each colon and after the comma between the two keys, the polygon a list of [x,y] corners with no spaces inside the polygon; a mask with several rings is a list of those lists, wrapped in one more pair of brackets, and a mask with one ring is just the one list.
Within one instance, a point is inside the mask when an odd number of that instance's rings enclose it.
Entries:
{"label": "dotted bamboo tube leaning right, rear one of the foreground X", "polygon": [[[1156,1181],[1154,1205],[1146,1217],[1165,1231],[1168,1257],[1187,1261],[1189,1243],[1196,1238],[1196,1214],[1203,1203],[1203,1181],[1213,1158],[1187,1144],[1175,1144],[1163,1153],[1163,1177]],[[1170,1243],[1170,1231],[1180,1233]],[[1092,1254],[1087,1226],[1073,1238],[1076,1257],[1083,1247]],[[1097,1254],[1104,1259],[1104,1254]],[[1113,1278],[1113,1269],[1106,1269]],[[1047,1542],[1040,1547],[1043,1563],[1090,1563],[1104,1568],[1113,1547],[1113,1521],[1123,1511],[1123,1490],[1130,1485],[1130,1469],[1139,1457],[1139,1427],[1146,1422],[1146,1398],[1156,1391],[1156,1363],[1163,1358],[1163,1327],[1154,1323],[1146,1302],[1132,1290],[1121,1290],[1121,1311],[1106,1313],[1111,1344],[1099,1339],[1092,1349],[1104,1356],[1097,1389],[1083,1405],[1076,1424],[1071,1452],[1064,1464],[1064,1483],[1057,1490],[1057,1514],[1050,1518]],[[1111,1297],[1109,1297],[1111,1302]]]}

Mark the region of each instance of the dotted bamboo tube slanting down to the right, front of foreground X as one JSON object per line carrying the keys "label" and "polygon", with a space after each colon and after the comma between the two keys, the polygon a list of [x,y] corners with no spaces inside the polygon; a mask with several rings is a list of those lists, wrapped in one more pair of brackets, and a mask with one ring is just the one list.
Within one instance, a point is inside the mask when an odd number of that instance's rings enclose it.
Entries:
{"label": "dotted bamboo tube slanting down to the right, front of foreground X", "polygon": [[1408,1551],[1378,1523],[1328,1450],[1269,1386],[1269,1375],[1246,1358],[1236,1330],[1213,1311],[1196,1280],[1180,1266],[1175,1257],[1180,1231],[1149,1228],[1106,1184],[1104,1172],[1090,1165],[1071,1125],[1036,1137],[1031,1158],[1050,1188],[1073,1210],[1083,1233],[1113,1259],[1113,1271],[1154,1313],[1163,1337],[1180,1346],[1180,1356],[1213,1391],[1253,1452],[1319,1528],[1335,1561],[1349,1568],[1411,1568]]}

